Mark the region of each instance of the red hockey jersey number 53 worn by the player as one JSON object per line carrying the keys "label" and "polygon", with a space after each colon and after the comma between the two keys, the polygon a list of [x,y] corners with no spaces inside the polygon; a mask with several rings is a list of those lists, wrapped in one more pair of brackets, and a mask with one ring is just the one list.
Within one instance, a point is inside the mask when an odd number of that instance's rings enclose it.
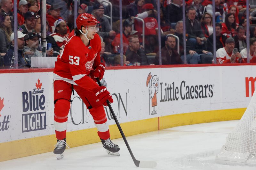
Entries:
{"label": "red hockey jersey number 53 worn by the player", "polygon": [[101,41],[95,34],[88,46],[80,36],[71,37],[61,54],[57,56],[53,71],[54,80],[63,80],[95,92],[99,87],[90,77],[90,71],[100,63]]}

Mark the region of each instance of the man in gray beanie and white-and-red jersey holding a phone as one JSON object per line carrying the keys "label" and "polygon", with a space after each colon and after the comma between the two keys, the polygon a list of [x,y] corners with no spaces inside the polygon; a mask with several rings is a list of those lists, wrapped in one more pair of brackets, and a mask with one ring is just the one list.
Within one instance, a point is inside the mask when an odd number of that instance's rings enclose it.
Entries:
{"label": "man in gray beanie and white-and-red jersey holding a phone", "polygon": [[217,63],[243,63],[244,60],[239,52],[234,53],[235,40],[231,37],[227,38],[225,47],[216,51]]}

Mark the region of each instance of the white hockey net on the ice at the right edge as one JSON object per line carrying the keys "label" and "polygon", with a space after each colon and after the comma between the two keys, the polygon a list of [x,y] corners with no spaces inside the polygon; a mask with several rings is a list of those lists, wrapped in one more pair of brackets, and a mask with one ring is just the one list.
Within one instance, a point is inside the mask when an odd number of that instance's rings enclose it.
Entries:
{"label": "white hockey net on the ice at the right edge", "polygon": [[216,162],[228,165],[256,165],[256,92],[241,120],[228,134],[226,144],[216,156]]}

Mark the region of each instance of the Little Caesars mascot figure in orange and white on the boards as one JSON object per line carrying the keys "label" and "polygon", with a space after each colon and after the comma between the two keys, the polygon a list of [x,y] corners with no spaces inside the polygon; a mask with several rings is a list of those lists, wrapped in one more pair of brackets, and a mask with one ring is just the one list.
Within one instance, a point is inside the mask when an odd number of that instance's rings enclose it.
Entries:
{"label": "Little Caesars mascot figure in orange and white on the boards", "polygon": [[147,87],[149,92],[149,105],[150,105],[150,99],[151,99],[151,106],[153,107],[153,111],[150,113],[150,107],[149,107],[149,115],[156,114],[155,106],[157,106],[156,93],[158,93],[158,84],[159,84],[159,78],[156,75],[152,77],[150,72],[147,78]]}

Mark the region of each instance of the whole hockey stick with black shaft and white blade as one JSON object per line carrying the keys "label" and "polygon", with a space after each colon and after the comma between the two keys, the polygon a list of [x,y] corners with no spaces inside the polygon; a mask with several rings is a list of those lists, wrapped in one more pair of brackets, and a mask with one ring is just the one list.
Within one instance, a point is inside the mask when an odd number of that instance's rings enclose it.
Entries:
{"label": "whole hockey stick with black shaft and white blade", "polygon": [[[99,86],[101,86],[99,78],[96,78],[96,79],[97,79],[97,82],[98,82]],[[127,140],[126,140],[126,137],[124,136],[124,132],[123,132],[119,122],[117,121],[116,115],[115,115],[115,113],[114,113],[114,111],[113,111],[113,109],[112,109],[112,107],[110,105],[110,102],[108,100],[107,100],[107,104],[108,104],[110,113],[113,116],[113,118],[114,118],[114,120],[116,122],[116,125],[117,125],[117,127],[118,127],[118,129],[119,129],[119,131],[120,131],[120,133],[121,133],[121,135],[123,137],[123,139],[124,139],[124,143],[126,144],[127,149],[128,149],[128,151],[130,152],[130,154],[132,156],[132,160],[133,160],[134,164],[137,167],[142,167],[142,168],[154,168],[154,167],[156,167],[157,163],[155,161],[140,161],[140,160],[135,159],[135,157],[134,157],[134,155],[132,153],[132,150],[131,150],[131,148],[130,148]]]}

